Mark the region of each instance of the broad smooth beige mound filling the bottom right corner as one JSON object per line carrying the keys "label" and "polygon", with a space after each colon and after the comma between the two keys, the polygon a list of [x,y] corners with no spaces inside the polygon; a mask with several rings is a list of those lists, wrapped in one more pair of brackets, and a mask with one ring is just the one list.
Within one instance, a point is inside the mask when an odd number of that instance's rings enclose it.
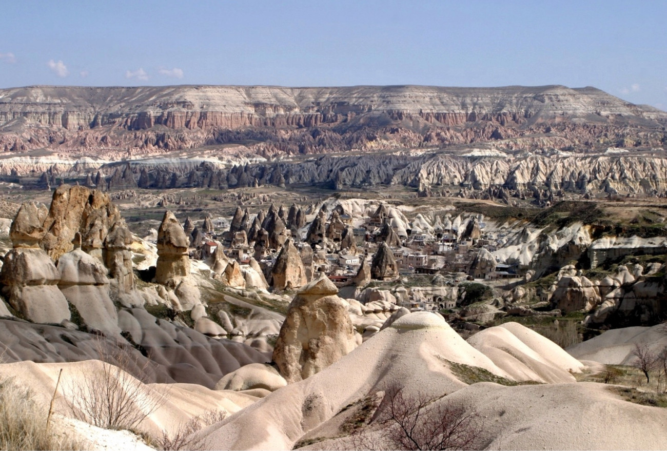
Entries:
{"label": "broad smooth beige mound filling the bottom right corner", "polygon": [[[628,402],[605,384],[540,384],[507,387],[490,382],[473,384],[436,401],[462,406],[464,414],[480,420],[478,449],[488,450],[660,450],[667,433],[663,408]],[[595,421],[591,421],[595,418]],[[348,438],[321,440],[321,428],[308,434],[316,444],[306,449],[354,449]],[[374,426],[370,438],[382,438],[386,429]],[[344,435],[344,434],[340,434]],[[329,435],[331,436],[331,435]]]}

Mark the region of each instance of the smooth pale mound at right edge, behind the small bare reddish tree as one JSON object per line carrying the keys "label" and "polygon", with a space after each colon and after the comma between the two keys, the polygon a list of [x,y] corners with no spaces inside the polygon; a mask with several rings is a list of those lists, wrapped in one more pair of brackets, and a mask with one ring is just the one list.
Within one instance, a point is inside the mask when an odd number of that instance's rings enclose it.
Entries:
{"label": "smooth pale mound at right edge, behind the small bare reddish tree", "polygon": [[580,360],[593,360],[608,365],[631,365],[635,344],[647,344],[656,355],[667,347],[667,334],[662,326],[612,329],[595,338],[570,346],[567,351]]}

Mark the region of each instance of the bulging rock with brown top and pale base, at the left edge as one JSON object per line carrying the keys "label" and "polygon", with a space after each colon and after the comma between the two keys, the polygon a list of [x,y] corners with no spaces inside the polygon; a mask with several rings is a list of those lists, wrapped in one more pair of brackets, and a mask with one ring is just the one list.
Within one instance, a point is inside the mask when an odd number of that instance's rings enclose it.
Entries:
{"label": "bulging rock with brown top and pale base, at the left edge", "polygon": [[37,323],[69,320],[69,306],[56,284],[60,274],[51,258],[39,248],[15,248],[7,252],[0,283],[9,304]]}

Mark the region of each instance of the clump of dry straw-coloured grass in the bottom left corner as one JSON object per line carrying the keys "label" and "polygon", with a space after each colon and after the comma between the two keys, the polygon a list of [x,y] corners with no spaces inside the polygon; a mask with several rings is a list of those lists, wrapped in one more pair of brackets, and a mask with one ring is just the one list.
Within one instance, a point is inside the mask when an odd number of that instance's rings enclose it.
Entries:
{"label": "clump of dry straw-coloured grass in the bottom left corner", "polygon": [[47,412],[32,392],[13,380],[0,382],[0,449],[83,450],[86,444],[46,428]]}

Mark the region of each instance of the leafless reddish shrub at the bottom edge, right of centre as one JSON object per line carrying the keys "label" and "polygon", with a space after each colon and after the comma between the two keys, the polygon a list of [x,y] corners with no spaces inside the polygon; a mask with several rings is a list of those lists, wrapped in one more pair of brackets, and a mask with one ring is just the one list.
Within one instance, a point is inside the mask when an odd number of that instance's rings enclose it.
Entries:
{"label": "leafless reddish shrub at the bottom edge, right of centre", "polygon": [[483,428],[480,416],[466,412],[464,406],[425,394],[404,394],[396,387],[387,390],[373,423],[382,427],[382,434],[359,428],[351,436],[354,449],[478,449]]}

